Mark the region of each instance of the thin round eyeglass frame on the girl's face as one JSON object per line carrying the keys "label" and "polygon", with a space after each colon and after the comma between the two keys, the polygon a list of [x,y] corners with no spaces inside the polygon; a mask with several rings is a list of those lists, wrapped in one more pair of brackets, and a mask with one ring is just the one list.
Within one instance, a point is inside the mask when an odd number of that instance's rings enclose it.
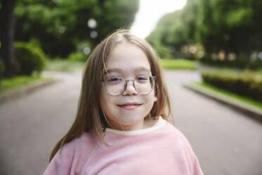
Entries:
{"label": "thin round eyeglass frame on the girl's face", "polygon": [[[111,76],[111,77],[108,77],[108,78],[112,78],[112,77],[115,77],[115,76]],[[155,84],[156,84],[156,76],[149,76],[150,78],[153,79],[153,83],[154,83],[154,84],[153,84],[153,86],[151,87],[151,90],[150,90],[149,92],[141,93],[141,92],[138,92],[138,91],[137,91],[137,88],[135,87],[135,80],[137,80],[137,78],[139,78],[139,77],[136,77],[134,80],[131,80],[131,79],[126,80],[125,78],[120,77],[120,76],[116,76],[116,77],[119,77],[119,78],[122,78],[123,80],[125,80],[125,86],[124,86],[125,88],[124,88],[124,90],[123,90],[122,92],[120,92],[118,95],[123,95],[123,92],[125,92],[125,90],[127,89],[127,83],[130,82],[130,81],[133,82],[133,86],[134,86],[134,88],[135,88],[135,91],[136,91],[137,93],[141,94],[141,95],[148,95],[150,92],[152,92],[152,90],[154,90],[154,87],[155,87]],[[101,81],[103,82],[103,86],[104,86],[105,90],[106,90],[106,79],[108,79],[108,78],[102,78],[102,79],[101,79]],[[108,92],[108,91],[106,90],[106,92]],[[113,94],[111,94],[110,92],[108,92],[108,94],[109,94],[109,95],[113,95]],[[118,96],[118,95],[113,95],[113,96]]]}

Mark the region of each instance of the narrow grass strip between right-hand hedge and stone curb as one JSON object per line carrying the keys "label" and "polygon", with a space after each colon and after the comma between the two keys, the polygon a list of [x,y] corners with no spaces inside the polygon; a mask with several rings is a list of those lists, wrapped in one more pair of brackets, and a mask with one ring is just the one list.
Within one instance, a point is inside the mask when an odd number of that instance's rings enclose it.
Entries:
{"label": "narrow grass strip between right-hand hedge and stone curb", "polygon": [[242,97],[242,96],[237,95],[237,94],[235,94],[233,92],[228,92],[228,91],[220,89],[218,87],[214,87],[213,85],[208,85],[207,83],[204,83],[204,82],[201,82],[201,83],[194,82],[192,84],[200,86],[200,87],[207,88],[208,90],[213,90],[215,92],[218,92],[218,93],[221,93],[223,95],[226,95],[227,97],[231,97],[232,99],[237,99],[237,100],[239,100],[241,102],[244,102],[244,103],[247,103],[247,104],[250,104],[250,105],[253,105],[255,107],[259,107],[259,108],[262,109],[262,103],[258,102],[258,101],[255,101],[254,99],[250,99],[248,97]]}

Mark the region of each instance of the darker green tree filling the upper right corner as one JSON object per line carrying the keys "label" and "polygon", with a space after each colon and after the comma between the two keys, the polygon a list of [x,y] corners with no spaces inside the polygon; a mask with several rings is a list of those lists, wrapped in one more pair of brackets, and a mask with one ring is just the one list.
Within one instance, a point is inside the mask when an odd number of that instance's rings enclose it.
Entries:
{"label": "darker green tree filling the upper right corner", "polygon": [[196,36],[208,54],[223,50],[249,59],[261,49],[261,1],[199,0],[197,7]]}

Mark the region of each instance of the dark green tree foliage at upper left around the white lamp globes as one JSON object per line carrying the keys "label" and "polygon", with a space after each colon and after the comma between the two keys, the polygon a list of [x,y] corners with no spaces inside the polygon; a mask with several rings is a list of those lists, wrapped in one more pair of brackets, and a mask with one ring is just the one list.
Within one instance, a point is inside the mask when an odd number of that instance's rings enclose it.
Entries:
{"label": "dark green tree foliage at upper left around the white lamp globes", "polygon": [[[15,40],[35,38],[46,54],[68,56],[82,43],[92,48],[109,32],[128,28],[138,4],[138,0],[18,0]],[[96,22],[92,28],[89,19]]]}

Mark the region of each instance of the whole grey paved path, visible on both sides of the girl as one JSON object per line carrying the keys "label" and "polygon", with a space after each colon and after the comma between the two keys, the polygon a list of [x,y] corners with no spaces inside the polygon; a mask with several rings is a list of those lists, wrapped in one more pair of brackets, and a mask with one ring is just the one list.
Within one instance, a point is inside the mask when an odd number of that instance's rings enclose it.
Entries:
{"label": "whole grey paved path, visible on both sides of the girl", "polygon": [[[174,123],[187,136],[204,174],[261,175],[262,124],[184,89],[195,71],[165,71]],[[0,105],[0,174],[42,174],[51,148],[75,117],[80,73]]]}

